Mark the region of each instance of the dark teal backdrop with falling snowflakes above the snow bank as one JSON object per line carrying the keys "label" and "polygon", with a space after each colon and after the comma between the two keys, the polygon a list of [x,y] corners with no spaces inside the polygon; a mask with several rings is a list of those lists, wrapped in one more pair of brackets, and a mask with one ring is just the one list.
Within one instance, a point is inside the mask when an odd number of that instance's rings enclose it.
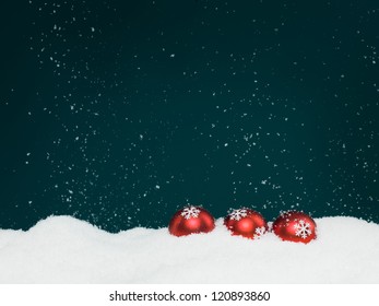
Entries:
{"label": "dark teal backdrop with falling snowflakes above the snow bank", "polygon": [[379,222],[378,1],[0,5],[0,227]]}

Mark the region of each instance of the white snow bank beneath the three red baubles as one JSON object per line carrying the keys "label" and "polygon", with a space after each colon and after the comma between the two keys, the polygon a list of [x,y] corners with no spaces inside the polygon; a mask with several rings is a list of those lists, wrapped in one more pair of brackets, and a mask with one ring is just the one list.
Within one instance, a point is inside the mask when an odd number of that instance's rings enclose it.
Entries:
{"label": "white snow bank beneath the three red baubles", "polygon": [[0,229],[0,283],[379,283],[379,225],[316,219],[308,245],[167,228],[103,232],[52,216],[27,232]]}

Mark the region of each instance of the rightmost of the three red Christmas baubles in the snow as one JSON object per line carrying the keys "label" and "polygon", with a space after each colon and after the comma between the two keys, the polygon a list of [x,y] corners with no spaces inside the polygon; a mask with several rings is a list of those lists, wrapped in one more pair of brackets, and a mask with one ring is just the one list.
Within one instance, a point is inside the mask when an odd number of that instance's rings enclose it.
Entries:
{"label": "rightmost of the three red Christmas baubles in the snow", "polygon": [[308,244],[316,239],[316,222],[303,212],[282,213],[272,224],[272,229],[282,240]]}

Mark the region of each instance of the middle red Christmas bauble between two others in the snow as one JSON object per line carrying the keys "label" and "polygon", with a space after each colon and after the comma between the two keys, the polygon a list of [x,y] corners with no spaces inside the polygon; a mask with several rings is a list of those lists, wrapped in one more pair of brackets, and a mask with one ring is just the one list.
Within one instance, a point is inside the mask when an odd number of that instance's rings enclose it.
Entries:
{"label": "middle red Christmas bauble between two others in the snow", "polygon": [[268,231],[264,217],[250,209],[234,210],[224,219],[225,226],[232,235],[240,235],[250,239],[260,238]]}

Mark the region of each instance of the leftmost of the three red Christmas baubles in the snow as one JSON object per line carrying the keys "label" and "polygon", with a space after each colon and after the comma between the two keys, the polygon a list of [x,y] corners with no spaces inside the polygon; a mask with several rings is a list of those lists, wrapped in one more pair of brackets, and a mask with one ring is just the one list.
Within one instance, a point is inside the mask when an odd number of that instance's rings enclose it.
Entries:
{"label": "leftmost of the three red Christmas baubles in the snow", "polygon": [[214,217],[203,208],[186,207],[177,211],[168,225],[174,236],[208,233],[214,228]]}

